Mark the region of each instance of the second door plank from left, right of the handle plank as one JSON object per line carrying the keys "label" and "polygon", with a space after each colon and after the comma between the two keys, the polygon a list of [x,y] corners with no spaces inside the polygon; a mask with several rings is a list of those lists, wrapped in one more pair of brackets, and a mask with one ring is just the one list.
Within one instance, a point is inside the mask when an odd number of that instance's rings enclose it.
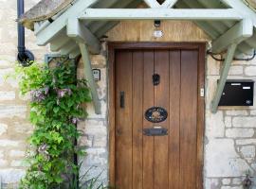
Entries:
{"label": "second door plank from left, right of the handle plank", "polygon": [[133,188],[142,189],[143,52],[133,52]]}

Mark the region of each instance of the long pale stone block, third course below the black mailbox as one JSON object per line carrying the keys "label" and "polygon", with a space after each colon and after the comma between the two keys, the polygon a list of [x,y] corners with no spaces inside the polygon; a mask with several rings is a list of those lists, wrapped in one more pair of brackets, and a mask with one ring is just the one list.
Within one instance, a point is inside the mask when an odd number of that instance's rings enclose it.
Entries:
{"label": "long pale stone block, third course below the black mailbox", "polygon": [[229,138],[246,138],[254,135],[254,129],[226,129]]}

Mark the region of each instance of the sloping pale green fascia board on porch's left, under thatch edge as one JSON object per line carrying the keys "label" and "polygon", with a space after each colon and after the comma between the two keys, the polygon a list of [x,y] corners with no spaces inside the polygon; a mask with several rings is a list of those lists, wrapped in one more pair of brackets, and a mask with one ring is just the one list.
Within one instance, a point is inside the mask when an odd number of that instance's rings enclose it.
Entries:
{"label": "sloping pale green fascia board on porch's left, under thatch edge", "polygon": [[66,26],[66,21],[70,17],[78,16],[83,9],[89,8],[97,3],[99,0],[78,0],[73,6],[64,11],[64,13],[54,20],[49,26],[46,26],[42,31],[37,34],[37,44],[46,45]]}

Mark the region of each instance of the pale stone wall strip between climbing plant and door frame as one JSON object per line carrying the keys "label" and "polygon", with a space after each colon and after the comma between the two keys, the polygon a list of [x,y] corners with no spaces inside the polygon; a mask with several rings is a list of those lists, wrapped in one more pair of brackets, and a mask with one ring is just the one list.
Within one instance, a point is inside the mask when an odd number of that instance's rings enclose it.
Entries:
{"label": "pale stone wall strip between climbing plant and door frame", "polygon": [[[101,70],[101,81],[96,82],[101,100],[101,114],[95,114],[92,104],[87,105],[88,117],[80,121],[78,128],[83,131],[79,141],[80,146],[86,147],[86,157],[80,157],[82,163],[81,175],[88,172],[86,179],[99,177],[99,182],[108,180],[108,122],[107,122],[107,57],[106,43],[102,43],[101,55],[91,56],[93,68]],[[78,66],[78,77],[84,77],[83,64]]]}

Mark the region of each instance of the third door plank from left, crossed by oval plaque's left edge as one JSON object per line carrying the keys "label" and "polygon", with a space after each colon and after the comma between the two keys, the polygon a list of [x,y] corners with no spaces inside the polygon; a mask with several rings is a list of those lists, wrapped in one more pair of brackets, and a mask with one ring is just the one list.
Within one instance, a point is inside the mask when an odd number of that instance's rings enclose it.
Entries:
{"label": "third door plank from left, crossed by oval plaque's left edge", "polygon": [[[154,106],[154,50],[144,51],[143,112]],[[153,128],[153,123],[143,119],[143,129]],[[154,137],[143,135],[143,189],[154,189]],[[156,189],[156,188],[155,188]]]}

